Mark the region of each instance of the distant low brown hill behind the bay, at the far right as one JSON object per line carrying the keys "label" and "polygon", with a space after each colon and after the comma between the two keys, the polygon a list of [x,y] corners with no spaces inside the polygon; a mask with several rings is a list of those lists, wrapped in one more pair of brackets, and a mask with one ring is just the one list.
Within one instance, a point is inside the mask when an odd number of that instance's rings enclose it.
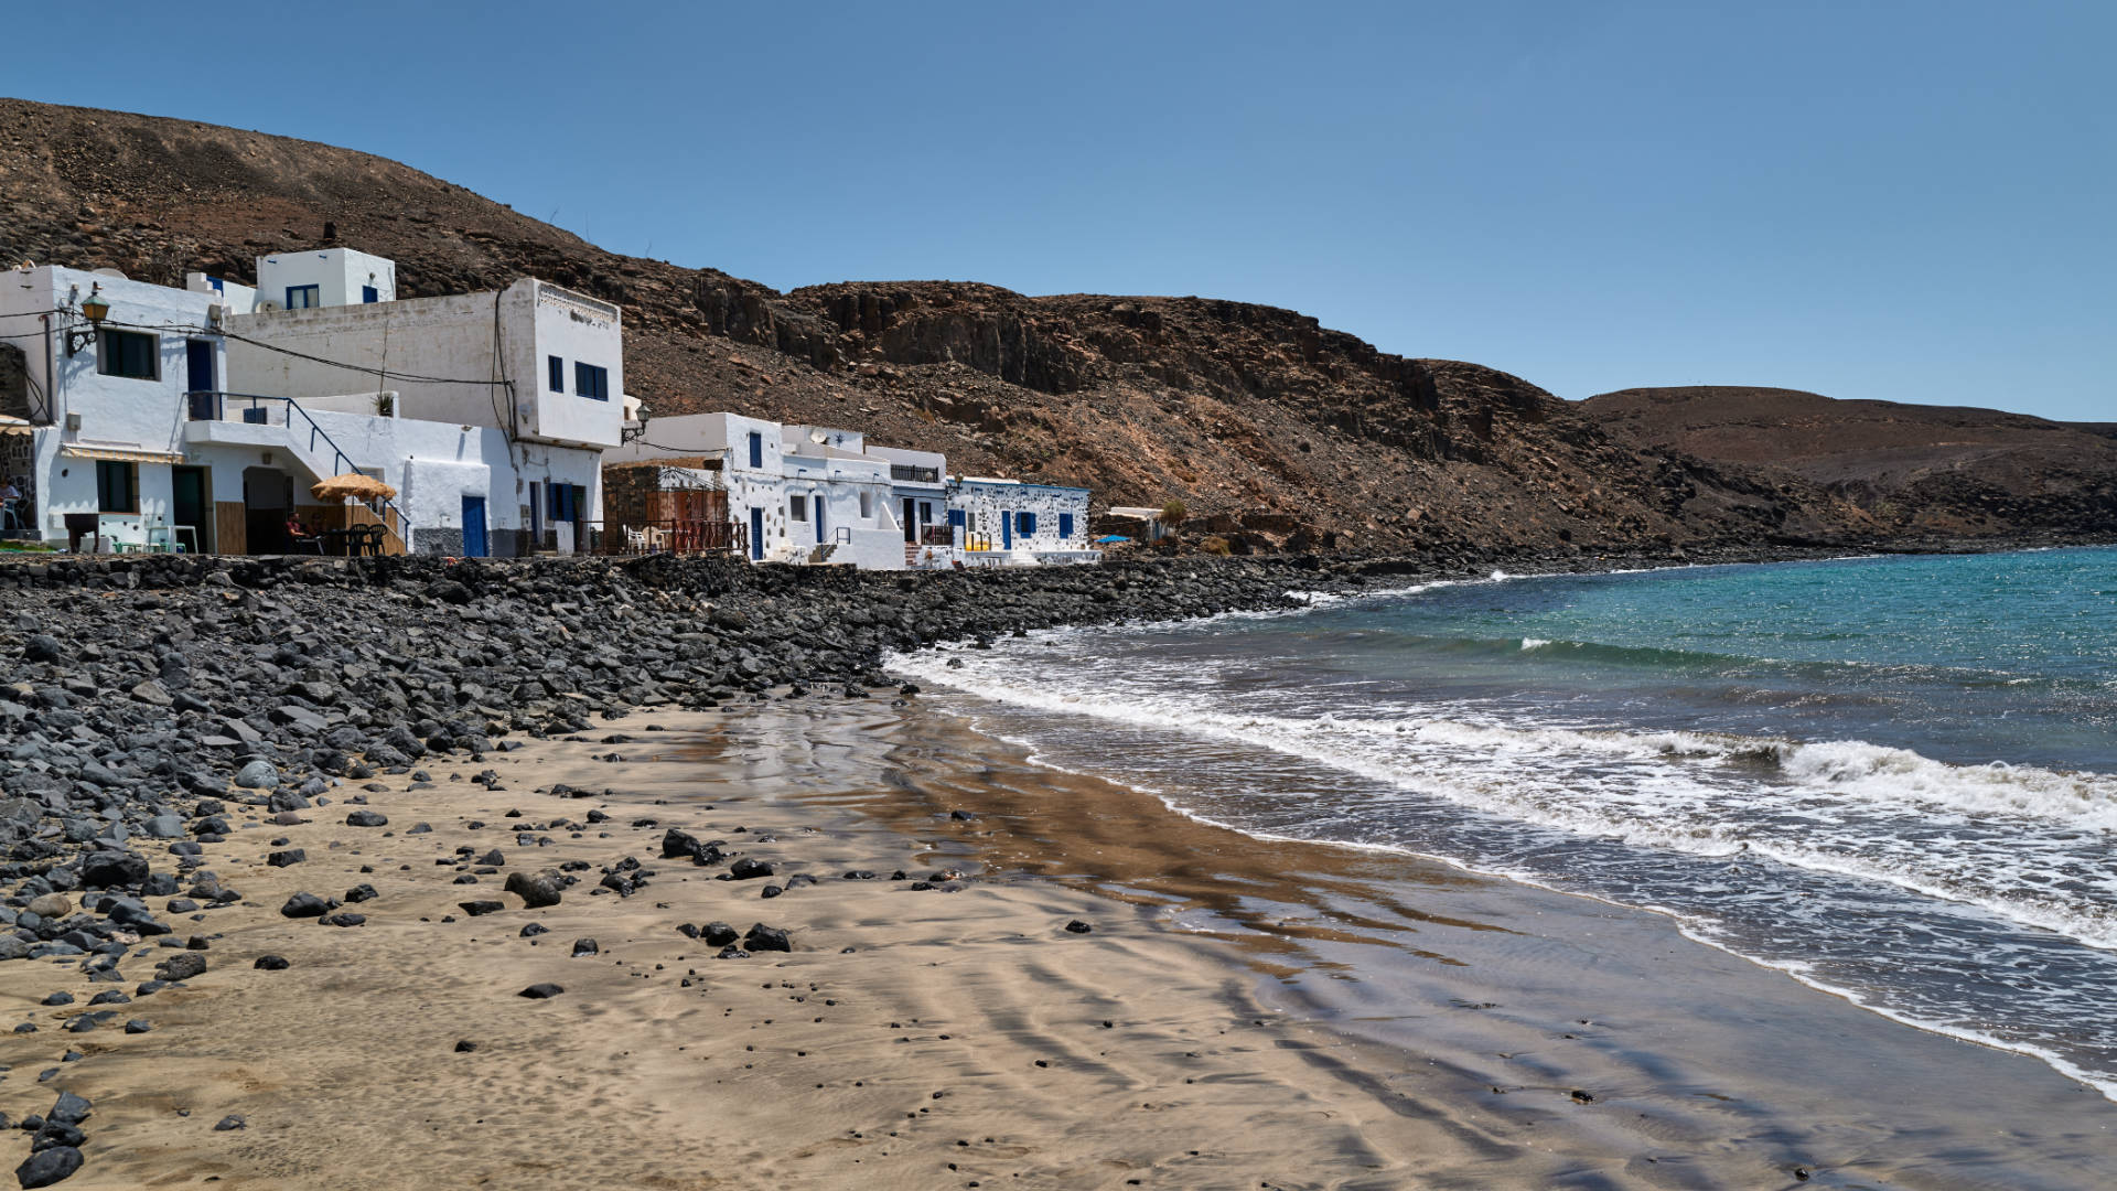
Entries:
{"label": "distant low brown hill behind the bay, at the far right", "polygon": [[1785,388],[1630,388],[1581,409],[1615,439],[1799,477],[1890,534],[2117,536],[2109,424]]}

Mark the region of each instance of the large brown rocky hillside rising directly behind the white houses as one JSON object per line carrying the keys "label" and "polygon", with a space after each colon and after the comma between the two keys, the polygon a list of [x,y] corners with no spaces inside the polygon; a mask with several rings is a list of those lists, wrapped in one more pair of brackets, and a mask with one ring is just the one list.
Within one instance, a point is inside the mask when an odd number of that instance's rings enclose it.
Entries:
{"label": "large brown rocky hillside rising directly behind the white houses", "polygon": [[781,295],[605,252],[366,153],[0,100],[0,261],[250,280],[254,256],[326,237],[396,259],[404,297],[533,273],[620,303],[627,388],[658,415],[857,426],[944,449],[953,470],[1088,485],[1097,506],[1183,500],[1236,549],[1753,545],[1878,526],[1799,475],[1672,456],[1520,377],[1391,356],[1285,309],[961,282]]}

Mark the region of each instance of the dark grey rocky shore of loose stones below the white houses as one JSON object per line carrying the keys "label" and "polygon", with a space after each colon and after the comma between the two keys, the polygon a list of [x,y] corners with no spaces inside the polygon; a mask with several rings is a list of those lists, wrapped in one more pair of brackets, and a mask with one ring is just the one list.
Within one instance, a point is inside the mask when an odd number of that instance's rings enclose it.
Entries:
{"label": "dark grey rocky shore of loose stones below the white houses", "polygon": [[[207,867],[207,848],[256,850],[269,835],[265,867],[292,869],[307,860],[290,843],[301,824],[328,818],[354,835],[385,826],[387,816],[366,810],[368,793],[394,793],[404,805],[406,795],[432,788],[428,767],[438,765],[476,771],[472,784],[497,790],[489,757],[519,750],[523,737],[618,742],[597,721],[639,708],[739,712],[771,699],[915,695],[879,670],[887,651],[1052,625],[1293,608],[1302,598],[1289,591],[1357,593],[1490,570],[1825,553],[1844,551],[1291,555],[942,574],[667,555],[11,562],[0,566],[15,642],[0,648],[0,960],[49,962],[70,981],[108,985],[64,1009],[64,1030],[152,1030],[123,1007],[207,968],[207,941],[174,920],[210,920],[243,901]],[[586,824],[544,824],[559,826]],[[726,869],[726,879],[771,875],[718,843],[669,831],[650,863]],[[476,852],[440,863],[472,884],[504,865]],[[466,890],[474,896],[464,913],[557,905],[586,869],[510,869],[508,901]],[[641,886],[639,869],[639,860],[612,860],[593,888],[629,896]],[[277,911],[362,926],[362,890],[370,886],[356,884],[343,899],[301,890]],[[788,945],[762,922],[747,935],[720,924],[705,932],[701,941],[722,954]],[[53,994],[61,996],[44,1005],[68,1007],[72,994]],[[21,1121],[34,1151],[17,1172],[23,1187],[80,1168],[87,1115],[87,1104],[61,1094]]]}

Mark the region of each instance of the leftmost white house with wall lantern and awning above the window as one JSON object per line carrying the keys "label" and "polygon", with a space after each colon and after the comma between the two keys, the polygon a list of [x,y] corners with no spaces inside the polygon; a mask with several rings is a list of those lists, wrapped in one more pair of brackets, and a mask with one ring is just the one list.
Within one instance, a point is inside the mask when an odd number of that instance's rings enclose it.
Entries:
{"label": "leftmost white house with wall lantern and awning above the window", "polygon": [[214,511],[241,506],[239,473],[184,451],[184,394],[218,388],[227,369],[212,305],[114,269],[0,273],[0,343],[21,352],[19,392],[0,394],[0,409],[19,411],[32,439],[17,481],[25,536],[66,545],[74,526],[108,549],[188,526],[210,549]]}

